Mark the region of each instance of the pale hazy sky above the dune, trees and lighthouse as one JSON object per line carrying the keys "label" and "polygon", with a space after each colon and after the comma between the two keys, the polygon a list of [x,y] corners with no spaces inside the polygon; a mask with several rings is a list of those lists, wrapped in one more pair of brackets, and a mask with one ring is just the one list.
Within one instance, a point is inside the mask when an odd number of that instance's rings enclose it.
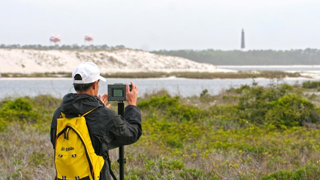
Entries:
{"label": "pale hazy sky above the dune, trees and lighthouse", "polygon": [[320,0],[0,0],[0,44],[143,50],[320,48]]}

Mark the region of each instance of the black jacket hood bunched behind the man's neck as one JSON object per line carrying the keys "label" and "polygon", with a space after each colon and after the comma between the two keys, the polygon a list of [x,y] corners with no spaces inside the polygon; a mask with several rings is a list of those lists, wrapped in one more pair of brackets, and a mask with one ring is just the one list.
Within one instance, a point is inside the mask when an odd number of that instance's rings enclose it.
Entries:
{"label": "black jacket hood bunched behind the man's neck", "polygon": [[63,112],[66,117],[75,117],[78,114],[82,115],[95,107],[102,106],[104,106],[104,104],[97,96],[68,93],[62,98],[60,111]]}

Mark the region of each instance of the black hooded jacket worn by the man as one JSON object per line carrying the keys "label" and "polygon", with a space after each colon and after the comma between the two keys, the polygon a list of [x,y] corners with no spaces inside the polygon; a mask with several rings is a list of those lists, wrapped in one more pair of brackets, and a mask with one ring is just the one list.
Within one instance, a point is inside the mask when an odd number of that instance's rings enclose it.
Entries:
{"label": "black hooded jacket worn by the man", "polygon": [[[97,96],[68,93],[63,97],[60,107],[55,110],[52,117],[50,140],[53,148],[56,136],[56,119],[59,118],[61,112],[66,117],[75,117],[95,107],[97,108],[84,117],[93,149],[97,155],[104,156],[109,149],[131,144],[139,139],[142,128],[141,113],[138,107],[126,106],[123,118],[115,111],[106,108]],[[110,179],[106,160],[100,177],[103,180]]]}

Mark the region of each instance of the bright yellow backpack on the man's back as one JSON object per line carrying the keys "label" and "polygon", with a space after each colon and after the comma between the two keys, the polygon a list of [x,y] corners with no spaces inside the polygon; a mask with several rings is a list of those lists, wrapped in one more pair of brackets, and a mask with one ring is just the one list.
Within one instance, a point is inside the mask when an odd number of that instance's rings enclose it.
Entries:
{"label": "bright yellow backpack on the man's back", "polygon": [[92,110],[69,118],[61,112],[57,119],[54,147],[57,179],[99,179],[104,159],[94,153],[84,118]]}

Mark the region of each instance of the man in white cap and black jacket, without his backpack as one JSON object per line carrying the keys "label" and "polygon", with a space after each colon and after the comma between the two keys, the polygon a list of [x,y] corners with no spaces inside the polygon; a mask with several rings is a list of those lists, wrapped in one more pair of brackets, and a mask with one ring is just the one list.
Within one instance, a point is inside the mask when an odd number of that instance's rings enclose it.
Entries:
{"label": "man in white cap and black jacket, without his backpack", "polygon": [[[106,79],[100,76],[100,70],[95,63],[82,62],[76,65],[72,71],[72,78],[76,93],[64,95],[60,106],[53,113],[50,129],[51,143],[54,148],[56,119],[60,117],[61,112],[66,117],[74,117],[97,107],[84,117],[94,152],[104,157],[104,165],[100,171],[99,179],[111,179],[105,156],[107,151],[134,143],[142,134],[141,112],[136,106],[138,87],[130,82],[132,90],[126,91],[128,105],[125,107],[124,117],[122,117],[109,109],[107,93],[101,96],[98,94],[99,81],[106,81]],[[126,84],[126,89],[129,89],[128,84]]]}

